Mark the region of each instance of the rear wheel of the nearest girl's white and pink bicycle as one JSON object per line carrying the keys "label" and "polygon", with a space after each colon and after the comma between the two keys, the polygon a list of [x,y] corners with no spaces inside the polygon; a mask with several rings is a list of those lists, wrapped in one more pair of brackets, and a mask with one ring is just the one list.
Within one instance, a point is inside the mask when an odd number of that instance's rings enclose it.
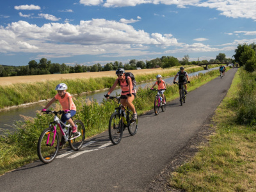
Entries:
{"label": "rear wheel of the nearest girl's white and pink bicycle", "polygon": [[79,133],[79,135],[74,136],[74,134],[72,133],[72,129],[70,129],[68,143],[73,150],[79,150],[84,143],[85,129],[84,124],[83,122],[81,122],[81,120],[74,120],[74,124],[77,125],[77,132]]}

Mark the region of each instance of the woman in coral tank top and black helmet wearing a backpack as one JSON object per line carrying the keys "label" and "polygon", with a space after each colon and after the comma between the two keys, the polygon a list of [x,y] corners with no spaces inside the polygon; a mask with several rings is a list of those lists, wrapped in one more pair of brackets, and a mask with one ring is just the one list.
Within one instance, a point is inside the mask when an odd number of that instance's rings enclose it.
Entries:
{"label": "woman in coral tank top and black helmet wearing a backpack", "polygon": [[[122,90],[120,102],[121,102],[122,106],[124,106],[124,107],[128,106],[129,109],[131,109],[131,111],[133,113],[132,120],[135,121],[137,119],[137,113],[136,113],[136,109],[135,109],[134,105],[132,104],[132,101],[136,97],[136,90],[133,87],[132,79],[129,76],[125,77],[124,68],[116,69],[116,76],[118,76],[118,78],[116,79],[114,84],[111,86],[108,93],[104,96],[108,99],[110,93],[112,93],[113,90],[115,90],[116,85],[120,84],[121,90]],[[126,81],[126,78],[127,78],[127,81]]]}

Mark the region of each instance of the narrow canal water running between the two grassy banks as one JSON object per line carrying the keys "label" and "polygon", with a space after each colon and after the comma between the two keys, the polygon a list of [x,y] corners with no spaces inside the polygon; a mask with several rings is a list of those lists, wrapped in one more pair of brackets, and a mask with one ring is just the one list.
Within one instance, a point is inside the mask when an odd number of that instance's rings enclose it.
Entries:
{"label": "narrow canal water running between the two grassy banks", "polygon": [[[193,72],[191,74],[188,74],[188,76],[189,77],[196,76],[199,73],[205,74],[206,72],[209,72],[211,70],[216,70],[218,68],[219,67],[210,68],[209,70],[200,70],[198,72]],[[165,78],[164,81],[168,84],[173,84],[173,79],[174,79],[174,77],[168,77],[168,78]],[[137,84],[137,88],[138,87],[144,88],[148,84],[151,88],[153,86],[154,82],[156,82],[156,80],[150,81],[147,83]],[[120,94],[120,92],[121,92],[121,90],[120,90],[120,88],[118,88],[114,92],[112,92],[111,95],[116,95],[116,93]],[[101,102],[106,93],[108,93],[108,90],[90,93],[90,94],[82,96],[82,97],[86,97],[86,99],[96,99],[98,102]],[[20,108],[10,109],[8,111],[0,111],[0,116],[1,116],[0,128],[1,129],[9,129],[10,131],[13,131],[13,124],[16,121],[24,120],[24,118],[22,118],[22,116],[35,117],[36,111],[41,111],[46,104],[47,104],[47,102],[41,102],[38,104],[32,104],[30,106],[24,106],[24,107],[20,107]]]}

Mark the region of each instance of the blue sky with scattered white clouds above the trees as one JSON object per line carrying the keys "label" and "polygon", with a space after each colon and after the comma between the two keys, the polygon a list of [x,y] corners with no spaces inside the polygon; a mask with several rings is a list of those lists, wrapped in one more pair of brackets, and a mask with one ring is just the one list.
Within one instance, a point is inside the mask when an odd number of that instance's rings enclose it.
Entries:
{"label": "blue sky with scattered white clouds above the trees", "polygon": [[0,65],[232,58],[238,44],[256,43],[255,8],[256,0],[1,1]]}

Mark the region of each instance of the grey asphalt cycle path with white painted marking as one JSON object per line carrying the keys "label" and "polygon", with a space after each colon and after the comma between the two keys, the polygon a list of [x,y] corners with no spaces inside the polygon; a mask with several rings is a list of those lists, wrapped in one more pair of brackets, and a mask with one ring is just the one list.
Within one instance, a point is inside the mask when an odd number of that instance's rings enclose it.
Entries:
{"label": "grey asphalt cycle path with white painted marking", "polygon": [[2,175],[0,191],[145,191],[214,113],[236,71],[189,92],[183,106],[175,99],[157,116],[153,110],[139,116],[137,134],[126,129],[118,145],[106,131],[78,152],[61,150],[50,164],[36,161]]}

